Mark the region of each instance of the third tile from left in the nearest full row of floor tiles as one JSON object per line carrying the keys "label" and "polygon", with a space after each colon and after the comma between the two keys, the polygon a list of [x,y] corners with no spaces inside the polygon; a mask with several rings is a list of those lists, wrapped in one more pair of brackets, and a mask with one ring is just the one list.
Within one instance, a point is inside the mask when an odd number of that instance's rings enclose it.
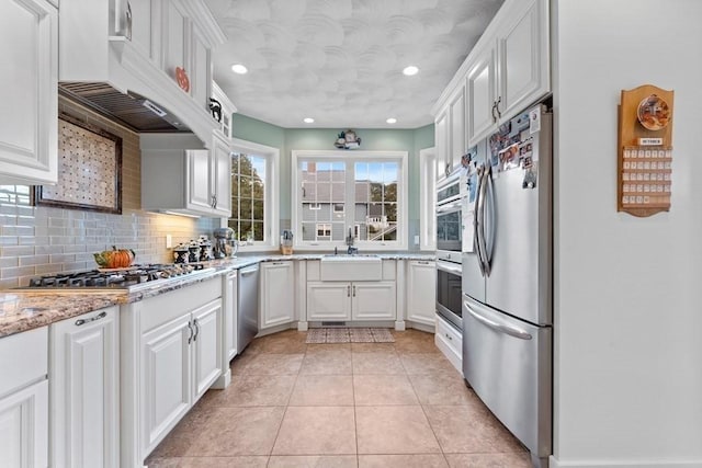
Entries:
{"label": "third tile from left in the nearest full row of floor tiles", "polygon": [[434,454],[441,448],[421,407],[356,407],[359,454]]}

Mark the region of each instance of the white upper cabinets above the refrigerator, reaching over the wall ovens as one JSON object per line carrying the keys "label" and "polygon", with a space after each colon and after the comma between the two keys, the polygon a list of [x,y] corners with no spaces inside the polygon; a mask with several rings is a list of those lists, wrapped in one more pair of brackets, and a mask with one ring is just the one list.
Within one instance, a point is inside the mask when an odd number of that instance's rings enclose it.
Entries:
{"label": "white upper cabinets above the refrigerator, reaching over the wall ovens", "polygon": [[[466,129],[461,155],[465,153],[498,125],[551,92],[548,32],[548,0],[506,0],[437,103],[437,116],[456,103],[451,113],[456,125],[449,124],[450,147],[461,142],[460,132]],[[462,127],[455,101],[461,92],[465,92],[466,106]],[[437,138],[439,132],[435,128]],[[455,167],[458,149],[449,148],[448,155]]]}

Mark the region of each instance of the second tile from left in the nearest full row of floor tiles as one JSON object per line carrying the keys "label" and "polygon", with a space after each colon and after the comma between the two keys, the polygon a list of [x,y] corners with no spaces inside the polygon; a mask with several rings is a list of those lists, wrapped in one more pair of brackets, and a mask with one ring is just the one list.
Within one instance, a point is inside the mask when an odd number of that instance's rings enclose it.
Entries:
{"label": "second tile from left in the nearest full row of floor tiles", "polygon": [[287,407],[272,455],[355,455],[350,407]]}

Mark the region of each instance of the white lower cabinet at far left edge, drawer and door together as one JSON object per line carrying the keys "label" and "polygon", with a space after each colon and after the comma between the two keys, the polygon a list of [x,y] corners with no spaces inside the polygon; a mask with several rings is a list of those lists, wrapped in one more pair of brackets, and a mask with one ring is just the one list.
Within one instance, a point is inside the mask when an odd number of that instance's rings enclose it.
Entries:
{"label": "white lower cabinet at far left edge, drawer and door together", "polygon": [[0,467],[48,467],[48,328],[0,339]]}

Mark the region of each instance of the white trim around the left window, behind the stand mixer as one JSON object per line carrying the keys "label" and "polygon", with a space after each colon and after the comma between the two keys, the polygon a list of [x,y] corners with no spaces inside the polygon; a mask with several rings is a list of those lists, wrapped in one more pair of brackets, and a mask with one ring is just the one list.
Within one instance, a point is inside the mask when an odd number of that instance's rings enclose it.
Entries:
{"label": "white trim around the left window, behind the stand mixer", "polygon": [[[263,225],[267,227],[263,241],[254,241],[253,244],[242,242],[239,252],[261,252],[278,249],[280,243],[280,160],[281,150],[265,145],[231,138],[231,151],[247,155],[262,156],[265,158],[265,195],[263,198]],[[233,207],[234,210],[234,207]],[[227,227],[227,218],[222,218],[222,227]]]}

